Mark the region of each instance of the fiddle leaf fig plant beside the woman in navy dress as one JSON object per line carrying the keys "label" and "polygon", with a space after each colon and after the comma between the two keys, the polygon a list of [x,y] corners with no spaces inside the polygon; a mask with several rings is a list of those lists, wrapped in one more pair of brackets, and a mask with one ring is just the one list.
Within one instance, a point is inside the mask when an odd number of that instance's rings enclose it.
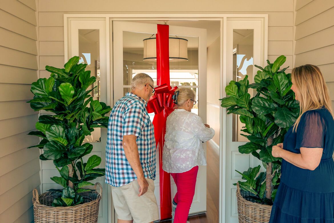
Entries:
{"label": "fiddle leaf fig plant beside the woman in navy dress", "polygon": [[[272,204],[280,182],[281,158],[272,156],[272,146],[283,142],[288,128],[299,115],[299,104],[291,90],[291,74],[287,68],[280,70],[285,63],[284,55],[274,63],[267,60],[268,66],[262,68],[249,84],[245,75],[240,81],[231,81],[225,88],[228,97],[221,100],[221,106],[227,108],[227,114],[239,115],[245,126],[241,131],[249,142],[238,147],[240,153],[252,154],[260,159],[266,173],[260,173],[260,166],[249,168],[241,174],[244,182],[239,181],[241,190],[252,193],[259,203]],[[249,89],[256,89],[251,97]]]}

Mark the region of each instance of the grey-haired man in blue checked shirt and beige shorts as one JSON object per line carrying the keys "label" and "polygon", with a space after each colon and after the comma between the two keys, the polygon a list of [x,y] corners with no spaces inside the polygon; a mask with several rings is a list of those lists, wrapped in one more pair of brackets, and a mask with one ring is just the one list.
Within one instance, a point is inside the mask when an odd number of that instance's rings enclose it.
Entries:
{"label": "grey-haired man in blue checked shirt and beige shorts", "polygon": [[118,100],[110,114],[106,147],[106,183],[111,185],[118,223],[159,219],[154,196],[155,139],[146,104],[154,92],[144,73],[131,82],[131,93]]}

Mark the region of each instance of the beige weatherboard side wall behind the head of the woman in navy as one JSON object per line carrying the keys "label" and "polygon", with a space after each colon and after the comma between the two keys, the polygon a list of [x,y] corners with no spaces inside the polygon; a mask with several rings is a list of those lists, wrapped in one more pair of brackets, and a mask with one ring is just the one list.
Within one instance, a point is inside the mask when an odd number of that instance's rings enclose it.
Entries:
{"label": "beige weatherboard side wall behind the head of the woman in navy", "polygon": [[334,105],[334,1],[297,0],[295,67],[319,66]]}

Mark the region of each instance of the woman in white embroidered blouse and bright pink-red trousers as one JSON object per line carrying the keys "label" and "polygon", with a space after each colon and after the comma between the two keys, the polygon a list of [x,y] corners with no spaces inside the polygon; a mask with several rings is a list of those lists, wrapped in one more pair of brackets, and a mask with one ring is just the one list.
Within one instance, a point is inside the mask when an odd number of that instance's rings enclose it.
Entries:
{"label": "woman in white embroidered blouse and bright pink-red trousers", "polygon": [[214,130],[191,113],[195,92],[179,88],[174,96],[175,110],[166,122],[162,169],[171,173],[177,187],[173,200],[173,222],[186,223],[195,193],[199,165],[206,165],[202,142],[214,136]]}

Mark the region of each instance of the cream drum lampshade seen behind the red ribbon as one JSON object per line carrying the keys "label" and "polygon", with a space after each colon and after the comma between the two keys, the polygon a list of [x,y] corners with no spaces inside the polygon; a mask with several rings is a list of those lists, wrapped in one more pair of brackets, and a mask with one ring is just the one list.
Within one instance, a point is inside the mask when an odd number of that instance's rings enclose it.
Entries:
{"label": "cream drum lampshade seen behind the red ribbon", "polygon": [[[156,38],[147,38],[144,42],[143,61],[157,61]],[[169,37],[169,62],[188,61],[188,40],[179,37]]]}

